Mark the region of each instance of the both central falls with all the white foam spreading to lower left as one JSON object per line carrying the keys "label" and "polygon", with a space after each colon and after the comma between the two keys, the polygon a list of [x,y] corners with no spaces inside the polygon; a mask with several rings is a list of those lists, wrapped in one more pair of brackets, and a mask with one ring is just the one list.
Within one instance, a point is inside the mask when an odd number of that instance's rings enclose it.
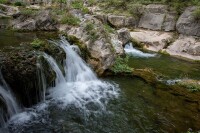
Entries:
{"label": "both central falls with all the white foam spreading to lower left", "polygon": [[[66,52],[64,62],[66,76],[63,75],[59,65],[50,55],[45,53],[42,55],[56,73],[55,87],[47,89],[45,101],[9,120],[9,128],[12,131],[20,132],[24,127],[27,129],[31,125],[40,124],[41,121],[48,126],[51,125],[49,119],[51,111],[49,109],[67,111],[67,116],[87,121],[90,114],[96,116],[97,114],[110,113],[106,111],[106,105],[109,100],[118,96],[117,85],[99,80],[81,57],[73,51],[65,38],[62,37],[60,41],[52,42]],[[72,113],[73,116],[70,116]],[[70,120],[68,119],[68,121]]]}

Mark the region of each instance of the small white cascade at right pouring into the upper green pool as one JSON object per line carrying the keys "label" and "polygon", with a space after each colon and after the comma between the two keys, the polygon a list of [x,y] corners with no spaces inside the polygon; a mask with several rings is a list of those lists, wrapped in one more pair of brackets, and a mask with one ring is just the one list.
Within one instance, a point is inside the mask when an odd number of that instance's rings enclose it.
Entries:
{"label": "small white cascade at right pouring into the upper green pool", "polygon": [[149,57],[155,57],[156,56],[156,54],[144,53],[140,50],[133,48],[132,43],[126,44],[124,50],[127,54],[134,56],[134,57],[149,58]]}

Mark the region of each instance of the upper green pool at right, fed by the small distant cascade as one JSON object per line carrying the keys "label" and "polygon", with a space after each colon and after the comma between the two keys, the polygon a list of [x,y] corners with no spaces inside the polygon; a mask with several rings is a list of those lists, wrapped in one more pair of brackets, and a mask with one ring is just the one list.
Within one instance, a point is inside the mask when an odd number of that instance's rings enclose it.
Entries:
{"label": "upper green pool at right, fed by the small distant cascade", "polygon": [[169,78],[200,79],[200,63],[185,61],[168,55],[157,55],[152,58],[130,57],[129,65],[134,68],[151,68]]}

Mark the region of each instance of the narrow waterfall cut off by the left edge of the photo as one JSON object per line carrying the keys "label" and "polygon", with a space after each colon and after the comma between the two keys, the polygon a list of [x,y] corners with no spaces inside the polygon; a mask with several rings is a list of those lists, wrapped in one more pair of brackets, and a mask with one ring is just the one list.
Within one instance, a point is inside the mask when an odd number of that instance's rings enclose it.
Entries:
{"label": "narrow waterfall cut off by the left edge of the photo", "polygon": [[19,112],[19,107],[16,102],[15,97],[13,96],[9,86],[5,82],[2,74],[0,73],[0,80],[3,86],[0,85],[0,101],[3,102],[5,110],[1,108],[0,112],[0,127],[5,126],[5,122],[14,114]]}

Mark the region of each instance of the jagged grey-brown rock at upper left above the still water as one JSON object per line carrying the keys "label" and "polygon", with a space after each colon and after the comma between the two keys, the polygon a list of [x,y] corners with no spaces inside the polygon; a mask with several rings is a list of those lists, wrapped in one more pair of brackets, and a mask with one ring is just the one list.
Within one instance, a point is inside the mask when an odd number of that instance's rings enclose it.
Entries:
{"label": "jagged grey-brown rock at upper left above the still water", "polygon": [[52,18],[49,10],[44,10],[36,16],[15,15],[13,28],[22,31],[55,31],[57,30],[57,22]]}

